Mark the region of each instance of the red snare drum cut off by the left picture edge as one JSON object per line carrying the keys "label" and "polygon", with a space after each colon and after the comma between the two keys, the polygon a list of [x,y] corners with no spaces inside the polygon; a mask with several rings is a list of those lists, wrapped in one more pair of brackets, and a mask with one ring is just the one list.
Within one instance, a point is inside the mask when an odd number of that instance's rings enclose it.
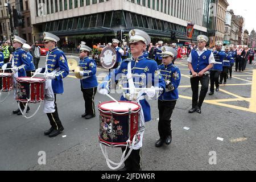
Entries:
{"label": "red snare drum cut off by the left picture edge", "polygon": [[0,73],[0,90],[2,92],[9,92],[13,90],[12,73]]}

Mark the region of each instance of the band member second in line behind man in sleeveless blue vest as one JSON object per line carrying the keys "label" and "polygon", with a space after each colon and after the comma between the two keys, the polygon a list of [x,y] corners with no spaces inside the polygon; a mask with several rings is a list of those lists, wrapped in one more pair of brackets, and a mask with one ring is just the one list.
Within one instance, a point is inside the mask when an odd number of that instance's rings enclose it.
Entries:
{"label": "band member second in line behind man in sleeveless blue vest", "polygon": [[228,71],[229,71],[229,67],[231,65],[230,60],[232,58],[232,54],[229,52],[229,47],[225,46],[225,53],[226,56],[224,57],[223,60],[223,65],[222,65],[222,72],[220,75],[220,84],[222,84],[222,80],[224,78],[224,85],[226,84],[226,77],[228,76]]}

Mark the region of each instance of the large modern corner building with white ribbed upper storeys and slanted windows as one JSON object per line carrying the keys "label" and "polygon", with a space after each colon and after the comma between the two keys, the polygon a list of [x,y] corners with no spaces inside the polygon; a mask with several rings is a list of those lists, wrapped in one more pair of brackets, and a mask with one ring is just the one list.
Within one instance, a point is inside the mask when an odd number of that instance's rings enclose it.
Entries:
{"label": "large modern corner building with white ribbed upper storeys and slanted windows", "polygon": [[30,1],[33,39],[42,40],[43,32],[60,36],[62,43],[79,44],[85,40],[108,43],[122,30],[122,38],[132,28],[171,43],[175,32],[177,43],[191,42],[186,36],[188,22],[195,23],[192,41],[207,34],[210,0],[35,0]]}

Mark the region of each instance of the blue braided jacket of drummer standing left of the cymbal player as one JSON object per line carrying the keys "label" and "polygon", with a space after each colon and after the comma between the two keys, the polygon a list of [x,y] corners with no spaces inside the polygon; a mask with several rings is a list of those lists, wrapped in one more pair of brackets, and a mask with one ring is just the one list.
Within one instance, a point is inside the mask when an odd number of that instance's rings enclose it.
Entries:
{"label": "blue braided jacket of drummer standing left of the cymbal player", "polygon": [[[52,80],[53,93],[63,93],[64,88],[62,79],[69,74],[67,58],[64,55],[64,52],[57,47],[53,48],[51,51],[48,51],[46,57],[48,73],[51,73],[55,69],[59,68],[59,71],[55,73],[55,75],[57,75],[56,78]],[[46,68],[43,68],[42,73],[44,73],[45,71]]]}

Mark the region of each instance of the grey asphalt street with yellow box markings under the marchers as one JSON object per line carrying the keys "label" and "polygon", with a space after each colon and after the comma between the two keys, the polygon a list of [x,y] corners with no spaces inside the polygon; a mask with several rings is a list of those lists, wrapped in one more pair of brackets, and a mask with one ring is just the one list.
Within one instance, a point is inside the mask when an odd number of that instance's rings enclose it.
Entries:
{"label": "grey asphalt street with yellow box markings under the marchers", "polygon": [[[42,56],[39,67],[45,62]],[[159,115],[157,101],[150,100],[152,120],[146,123],[143,138],[142,170],[256,170],[256,67],[247,64],[245,72],[233,71],[233,78],[220,86],[220,92],[207,94],[202,114],[189,114],[192,90],[187,61],[177,60],[176,65],[182,75],[180,98],[172,114],[172,143],[155,147]],[[98,68],[100,73],[108,70]],[[118,100],[121,95],[112,96]],[[97,93],[94,101],[97,109],[98,102],[110,99]],[[23,118],[12,113],[18,105],[10,92],[0,104],[0,170],[110,170],[98,142],[99,112],[93,119],[81,118],[84,100],[73,73],[64,78],[64,94],[57,95],[57,106],[64,131],[49,138],[44,136],[51,126],[43,105],[31,119]],[[37,107],[30,104],[28,115]],[[121,149],[108,149],[109,158],[119,162]],[[40,151],[46,153],[46,164],[38,163]]]}

